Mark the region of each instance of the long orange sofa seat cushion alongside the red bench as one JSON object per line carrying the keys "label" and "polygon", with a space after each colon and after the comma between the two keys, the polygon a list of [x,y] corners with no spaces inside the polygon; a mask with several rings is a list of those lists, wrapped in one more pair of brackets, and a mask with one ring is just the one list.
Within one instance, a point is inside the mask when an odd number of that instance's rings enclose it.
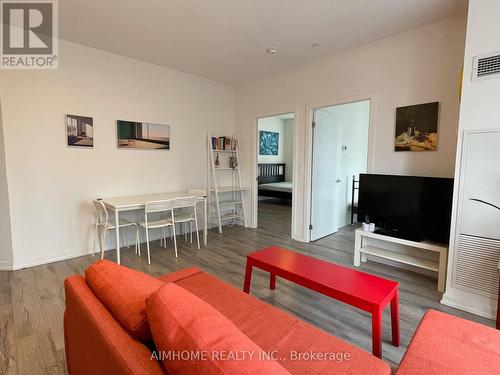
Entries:
{"label": "long orange sofa seat cushion alongside the red bench", "polygon": [[[389,365],[371,353],[207,273],[176,284],[214,307],[260,348],[276,351],[278,362],[292,374],[391,374]],[[304,311],[305,316],[312,313]],[[334,323],[333,312],[331,319]]]}

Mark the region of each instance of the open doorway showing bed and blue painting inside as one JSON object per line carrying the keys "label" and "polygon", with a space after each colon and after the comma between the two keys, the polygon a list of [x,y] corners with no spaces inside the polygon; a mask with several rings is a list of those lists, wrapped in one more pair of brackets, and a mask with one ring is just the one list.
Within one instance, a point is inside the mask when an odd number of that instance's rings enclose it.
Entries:
{"label": "open doorway showing bed and blue painting inside", "polygon": [[257,227],[292,232],[294,113],[257,119]]}

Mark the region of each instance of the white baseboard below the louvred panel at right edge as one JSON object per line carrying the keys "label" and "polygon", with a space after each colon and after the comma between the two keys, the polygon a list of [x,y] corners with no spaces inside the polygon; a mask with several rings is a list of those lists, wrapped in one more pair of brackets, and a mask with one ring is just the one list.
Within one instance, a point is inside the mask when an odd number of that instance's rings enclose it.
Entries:
{"label": "white baseboard below the louvred panel at right edge", "polygon": [[487,319],[496,319],[497,302],[493,298],[454,288],[447,288],[441,298],[441,303]]}

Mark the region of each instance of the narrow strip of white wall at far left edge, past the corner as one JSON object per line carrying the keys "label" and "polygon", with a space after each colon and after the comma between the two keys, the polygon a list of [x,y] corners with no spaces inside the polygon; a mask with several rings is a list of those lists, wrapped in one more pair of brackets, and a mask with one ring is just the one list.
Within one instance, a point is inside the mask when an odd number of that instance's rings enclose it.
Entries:
{"label": "narrow strip of white wall at far left edge, past the corner", "polygon": [[5,147],[0,103],[0,270],[12,267],[12,240],[10,233],[10,208],[5,170]]}

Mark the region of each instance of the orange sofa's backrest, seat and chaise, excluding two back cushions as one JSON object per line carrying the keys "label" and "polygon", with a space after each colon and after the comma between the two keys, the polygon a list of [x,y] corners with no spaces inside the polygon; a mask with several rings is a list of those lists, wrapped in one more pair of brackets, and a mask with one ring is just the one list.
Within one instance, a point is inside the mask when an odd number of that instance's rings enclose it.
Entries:
{"label": "orange sofa's backrest, seat and chaise, excluding two back cushions", "polygon": [[[111,266],[110,262],[108,265]],[[127,285],[133,285],[130,290],[137,293],[148,283],[148,280],[141,280],[140,276],[144,278],[144,274],[137,275],[136,271],[132,271],[135,276],[129,272],[127,277],[120,278],[121,269],[129,269],[121,266],[111,266],[110,269],[118,273],[111,279],[112,285],[119,284],[117,280],[122,279]],[[106,272],[110,271],[106,269]],[[277,351],[277,361],[291,374],[391,374],[390,367],[370,353],[195,267],[158,279],[163,283],[173,282],[207,302],[262,350]],[[139,339],[137,332],[125,329],[97,298],[90,287],[91,281],[80,275],[70,276],[65,281],[64,338],[69,374],[166,373],[153,355],[154,343]],[[157,281],[153,280],[155,283]],[[127,288],[122,288],[121,293],[122,297],[128,298]],[[119,307],[123,319],[127,306]],[[137,310],[137,306],[134,308]],[[116,314],[116,310],[113,311]],[[341,354],[342,360],[314,358],[315,353]],[[397,375],[434,374],[500,374],[500,331],[429,310]]]}

